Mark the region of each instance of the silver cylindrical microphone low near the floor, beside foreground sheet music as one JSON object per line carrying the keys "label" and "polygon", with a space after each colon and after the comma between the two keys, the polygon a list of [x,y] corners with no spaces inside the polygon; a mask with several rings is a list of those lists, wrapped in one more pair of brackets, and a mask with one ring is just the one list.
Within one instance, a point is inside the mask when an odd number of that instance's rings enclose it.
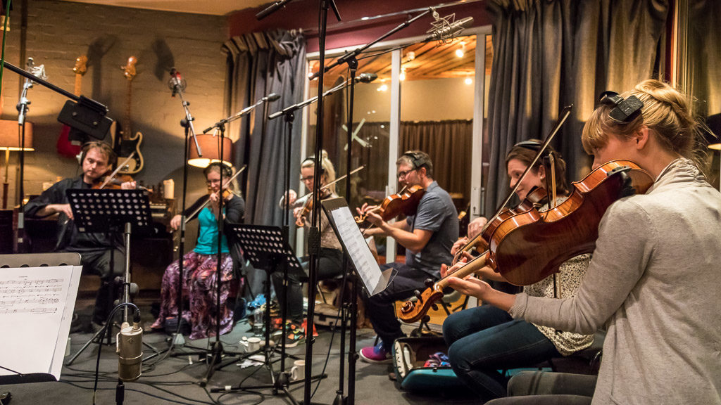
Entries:
{"label": "silver cylindrical microphone low near the floor, beside foreground sheet music", "polygon": [[140,378],[143,368],[143,328],[140,327],[140,311],[133,315],[133,326],[123,322],[115,337],[118,353],[118,378],[134,381]]}

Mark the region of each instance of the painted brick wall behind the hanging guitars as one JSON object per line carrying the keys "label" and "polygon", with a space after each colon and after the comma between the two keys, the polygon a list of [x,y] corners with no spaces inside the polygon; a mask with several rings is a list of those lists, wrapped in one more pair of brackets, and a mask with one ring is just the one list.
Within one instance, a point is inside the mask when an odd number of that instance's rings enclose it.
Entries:
{"label": "painted brick wall behind the hanging guitars", "polygon": [[[70,92],[74,89],[75,58],[91,56],[82,79],[82,93],[106,104],[109,116],[120,122],[125,115],[127,89],[120,66],[131,55],[138,58],[137,76],[132,82],[131,121],[133,133],[143,133],[146,166],[136,179],[156,184],[173,178],[179,196],[184,141],[180,119],[184,112],[180,99],[172,98],[167,87],[167,69],[176,67],[187,80],[186,99],[197,130],[223,118],[225,58],[220,48],[227,37],[226,18],[65,1],[32,0],[27,4],[26,56],[45,65],[48,81]],[[14,1],[13,5],[6,60],[24,67],[25,61],[19,59],[22,2]],[[5,71],[2,119],[17,119],[15,104],[22,81],[19,75]],[[28,98],[32,104],[27,120],[35,125],[35,151],[26,154],[25,194],[34,195],[41,191],[43,182],[73,177],[79,171],[73,159],[56,153],[61,131],[57,115],[66,98],[37,84],[30,89]],[[15,166],[16,152],[12,153],[9,172],[11,205],[15,198]],[[200,170],[193,169],[190,177],[188,190],[203,192]]]}

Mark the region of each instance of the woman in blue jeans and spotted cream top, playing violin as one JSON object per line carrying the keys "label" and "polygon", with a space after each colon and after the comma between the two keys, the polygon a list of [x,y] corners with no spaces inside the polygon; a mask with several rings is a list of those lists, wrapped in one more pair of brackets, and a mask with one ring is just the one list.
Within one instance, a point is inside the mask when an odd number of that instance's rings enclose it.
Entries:
{"label": "woman in blue jeans and spotted cream top, playing violin", "polygon": [[[540,148],[540,141],[531,140],[516,143],[508,151],[505,162],[511,188],[516,186]],[[547,152],[554,156],[555,184],[550,183],[551,160],[539,159],[518,185],[516,195],[521,201],[526,200],[534,187],[555,187],[560,197],[557,203],[565,200],[568,193],[566,163],[550,146]],[[547,207],[548,204],[544,208]],[[479,228],[472,229],[473,224],[480,223],[482,227],[485,222],[485,218],[472,221],[469,224],[469,236],[473,237],[480,231]],[[453,253],[456,254],[456,250],[466,241],[461,239],[456,242]],[[468,258],[466,253],[465,259]],[[547,277],[536,284],[527,285],[523,290],[536,297],[554,298],[559,294],[572,297],[578,290],[589,261],[588,254],[574,257],[561,264],[556,280]],[[487,280],[505,281],[490,267],[485,267],[480,275]],[[498,370],[533,367],[552,357],[570,355],[593,343],[593,334],[560,332],[522,319],[514,320],[507,312],[490,305],[451,313],[443,322],[443,337],[448,345],[451,367],[483,401],[505,396],[507,380]]]}

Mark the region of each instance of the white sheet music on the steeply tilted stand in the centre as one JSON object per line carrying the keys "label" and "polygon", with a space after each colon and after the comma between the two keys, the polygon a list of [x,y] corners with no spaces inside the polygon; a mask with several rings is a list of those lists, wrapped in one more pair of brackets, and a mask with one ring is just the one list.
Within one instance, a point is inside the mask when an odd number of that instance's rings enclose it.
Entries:
{"label": "white sheet music on the steeply tilted stand in the centre", "polygon": [[[345,208],[345,209],[344,209]],[[378,262],[373,257],[371,249],[368,248],[366,240],[363,239],[358,224],[355,223],[353,215],[348,207],[338,208],[330,211],[333,222],[337,227],[338,236],[348,250],[348,256],[353,259],[355,270],[366,284],[366,289],[371,293],[377,293],[376,288],[381,281],[381,270]]]}

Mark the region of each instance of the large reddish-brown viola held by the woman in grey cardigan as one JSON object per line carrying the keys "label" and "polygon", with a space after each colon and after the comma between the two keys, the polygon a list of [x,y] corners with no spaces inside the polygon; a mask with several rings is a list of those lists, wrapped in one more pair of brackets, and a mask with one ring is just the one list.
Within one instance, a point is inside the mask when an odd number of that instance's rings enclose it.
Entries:
{"label": "large reddish-brown viola held by the woman in grey cardigan", "polygon": [[598,223],[606,209],[621,197],[645,193],[653,178],[627,160],[609,161],[594,169],[557,207],[539,212],[531,208],[494,221],[484,233],[490,235],[488,249],[464,267],[416,292],[416,303],[406,301],[399,318],[415,322],[443,298],[451,277],[463,278],[490,266],[514,285],[531,285],[557,272],[560,264],[579,254],[593,252]]}

